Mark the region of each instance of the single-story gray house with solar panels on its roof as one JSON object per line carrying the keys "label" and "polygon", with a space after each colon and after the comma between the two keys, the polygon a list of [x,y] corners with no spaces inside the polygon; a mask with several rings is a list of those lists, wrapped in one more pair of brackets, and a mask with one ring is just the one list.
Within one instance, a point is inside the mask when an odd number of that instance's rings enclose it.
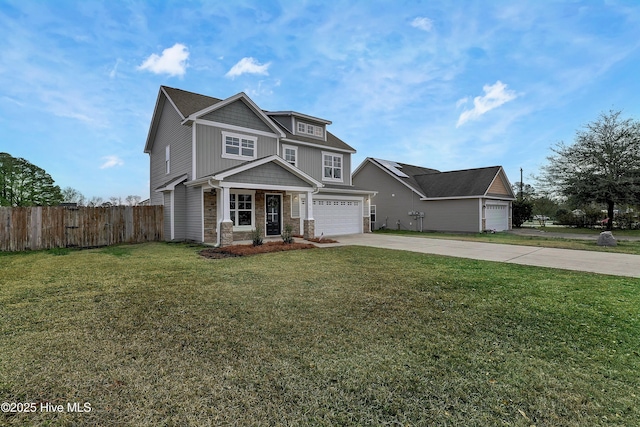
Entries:
{"label": "single-story gray house with solar panels on its roof", "polygon": [[482,232],[511,229],[511,184],[501,166],[439,172],[367,158],[353,183],[377,191],[371,228]]}

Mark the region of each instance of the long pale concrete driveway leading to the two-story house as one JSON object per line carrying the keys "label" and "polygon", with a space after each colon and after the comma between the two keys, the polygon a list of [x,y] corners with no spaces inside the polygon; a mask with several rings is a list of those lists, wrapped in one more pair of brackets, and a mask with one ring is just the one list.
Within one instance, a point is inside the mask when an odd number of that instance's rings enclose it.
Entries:
{"label": "long pale concrete driveway leading to the two-story house", "polygon": [[339,243],[322,246],[371,246],[458,258],[640,278],[640,255],[394,236],[389,234],[352,234],[338,236],[335,240],[339,240]]}

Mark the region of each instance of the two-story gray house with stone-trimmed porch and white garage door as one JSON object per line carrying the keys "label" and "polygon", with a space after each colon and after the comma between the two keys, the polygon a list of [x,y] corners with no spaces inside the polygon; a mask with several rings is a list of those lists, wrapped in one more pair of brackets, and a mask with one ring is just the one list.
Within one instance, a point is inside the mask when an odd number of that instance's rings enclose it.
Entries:
{"label": "two-story gray house with stone-trimmed porch and white garage door", "polygon": [[351,184],[355,150],[331,122],[161,86],[144,152],[167,240],[228,245],[286,225],[306,238],[370,229],[372,191]]}

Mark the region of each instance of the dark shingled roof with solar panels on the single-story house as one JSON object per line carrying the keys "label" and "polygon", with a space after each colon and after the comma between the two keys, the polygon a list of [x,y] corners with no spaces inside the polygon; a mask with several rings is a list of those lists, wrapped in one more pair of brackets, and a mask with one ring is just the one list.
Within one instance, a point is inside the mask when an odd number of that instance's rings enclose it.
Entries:
{"label": "dark shingled roof with solar panels on the single-story house", "polygon": [[[362,165],[367,161],[404,183],[419,194],[423,200],[487,197],[491,196],[490,190],[495,188],[494,184],[496,183],[500,184],[498,187],[503,188],[508,194],[494,194],[495,196],[515,200],[511,184],[502,166],[440,172],[435,169],[370,157]],[[362,165],[356,169],[354,175],[358,173]],[[393,167],[393,165],[397,167]]]}

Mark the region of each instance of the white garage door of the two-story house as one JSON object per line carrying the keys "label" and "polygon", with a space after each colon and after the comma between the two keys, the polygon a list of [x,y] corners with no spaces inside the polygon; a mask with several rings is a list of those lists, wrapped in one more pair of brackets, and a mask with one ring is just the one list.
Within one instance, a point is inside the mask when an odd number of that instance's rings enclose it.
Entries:
{"label": "white garage door of the two-story house", "polygon": [[314,199],[316,236],[362,233],[362,200]]}

